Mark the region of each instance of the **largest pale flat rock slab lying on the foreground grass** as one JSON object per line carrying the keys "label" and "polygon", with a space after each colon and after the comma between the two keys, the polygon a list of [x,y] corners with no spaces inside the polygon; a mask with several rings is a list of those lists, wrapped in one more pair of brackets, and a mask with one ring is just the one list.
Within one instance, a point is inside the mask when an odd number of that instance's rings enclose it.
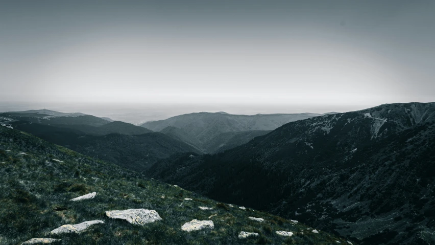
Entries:
{"label": "largest pale flat rock slab lying on the foreground grass", "polygon": [[111,218],[125,219],[133,225],[145,225],[157,220],[162,220],[156,210],[149,209],[127,209],[106,211]]}

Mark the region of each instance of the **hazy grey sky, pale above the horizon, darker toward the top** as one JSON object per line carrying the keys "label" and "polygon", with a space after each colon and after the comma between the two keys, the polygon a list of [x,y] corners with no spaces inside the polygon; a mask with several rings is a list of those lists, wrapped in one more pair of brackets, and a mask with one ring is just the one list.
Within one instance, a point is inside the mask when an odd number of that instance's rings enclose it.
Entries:
{"label": "hazy grey sky, pale above the horizon, darker toward the top", "polygon": [[434,40],[435,1],[2,1],[0,110],[432,102]]}

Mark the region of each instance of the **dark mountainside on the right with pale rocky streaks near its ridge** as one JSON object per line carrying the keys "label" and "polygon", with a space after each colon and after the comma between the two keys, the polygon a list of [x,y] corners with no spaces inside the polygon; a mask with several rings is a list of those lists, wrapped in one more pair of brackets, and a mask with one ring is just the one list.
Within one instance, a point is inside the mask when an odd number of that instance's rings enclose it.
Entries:
{"label": "dark mountainside on the right with pale rocky streaks near its ridge", "polygon": [[435,244],[435,103],[290,122],[223,153],[174,155],[151,171],[361,244]]}

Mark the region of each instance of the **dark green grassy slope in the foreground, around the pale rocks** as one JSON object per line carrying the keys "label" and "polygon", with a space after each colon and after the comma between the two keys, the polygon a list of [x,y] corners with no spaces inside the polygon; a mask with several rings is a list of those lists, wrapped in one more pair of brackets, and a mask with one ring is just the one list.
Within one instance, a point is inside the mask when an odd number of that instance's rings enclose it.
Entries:
{"label": "dark green grassy slope in the foreground, around the pale rocks", "polygon": [[[0,127],[0,176],[0,244],[20,244],[35,237],[61,238],[58,244],[105,245],[346,242],[324,232],[312,233],[302,224],[294,225],[269,213],[244,211],[235,205],[231,208],[228,204],[3,127]],[[68,201],[94,191],[98,193],[94,199]],[[184,201],[186,197],[192,200]],[[198,206],[213,207],[213,210],[201,210]],[[154,209],[163,220],[137,226],[105,216],[107,210],[133,208]],[[185,222],[209,220],[213,214],[217,214],[211,218],[213,230],[190,233],[181,230]],[[265,222],[250,220],[249,216],[263,218]],[[65,224],[95,219],[104,220],[105,224],[91,226],[78,235],[46,235]],[[281,237],[275,234],[277,230],[291,231],[295,235]],[[237,238],[240,231],[257,232],[260,236],[240,240]]]}

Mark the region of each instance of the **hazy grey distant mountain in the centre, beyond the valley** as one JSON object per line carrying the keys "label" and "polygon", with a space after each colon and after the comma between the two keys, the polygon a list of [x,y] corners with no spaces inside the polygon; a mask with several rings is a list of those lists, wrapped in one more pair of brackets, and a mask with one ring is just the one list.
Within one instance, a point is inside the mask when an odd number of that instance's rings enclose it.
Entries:
{"label": "hazy grey distant mountain in the centre, beyond the valley", "polygon": [[253,138],[265,135],[270,130],[285,123],[317,116],[321,116],[321,114],[257,114],[247,116],[224,112],[191,113],[165,120],[146,122],[141,126],[163,132],[205,153],[215,153],[248,143]]}

